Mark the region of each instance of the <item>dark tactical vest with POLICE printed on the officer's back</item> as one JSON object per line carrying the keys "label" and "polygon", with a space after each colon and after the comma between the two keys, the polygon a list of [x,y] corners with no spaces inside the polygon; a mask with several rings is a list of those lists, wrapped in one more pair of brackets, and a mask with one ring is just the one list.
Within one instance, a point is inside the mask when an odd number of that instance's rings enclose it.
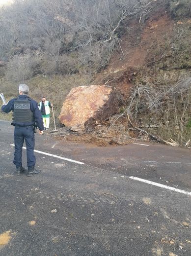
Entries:
{"label": "dark tactical vest with POLICE printed on the officer's back", "polygon": [[30,100],[20,100],[17,98],[14,102],[13,111],[14,123],[31,123],[34,121],[34,115],[30,110]]}

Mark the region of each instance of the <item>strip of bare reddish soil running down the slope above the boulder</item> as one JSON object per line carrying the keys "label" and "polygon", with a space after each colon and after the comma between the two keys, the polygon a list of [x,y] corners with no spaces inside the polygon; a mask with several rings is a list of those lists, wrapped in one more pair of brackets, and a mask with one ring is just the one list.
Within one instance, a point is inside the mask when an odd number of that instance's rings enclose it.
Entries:
{"label": "strip of bare reddish soil running down the slope above the boulder", "polygon": [[149,49],[156,43],[164,40],[164,35],[170,37],[174,22],[169,15],[161,9],[146,23],[140,24],[138,20],[127,21],[129,32],[120,40],[122,51],[114,52],[106,70],[96,77],[96,84],[107,84],[120,90],[124,99],[128,98],[133,87],[133,79],[144,64],[155,61],[150,56]]}

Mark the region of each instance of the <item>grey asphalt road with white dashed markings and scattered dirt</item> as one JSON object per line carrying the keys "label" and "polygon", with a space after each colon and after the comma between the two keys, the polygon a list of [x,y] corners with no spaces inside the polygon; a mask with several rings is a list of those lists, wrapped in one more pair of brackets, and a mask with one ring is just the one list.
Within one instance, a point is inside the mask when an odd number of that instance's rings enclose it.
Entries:
{"label": "grey asphalt road with white dashed markings and scattered dirt", "polygon": [[36,135],[42,174],[27,177],[14,174],[12,144],[0,121],[0,256],[191,255],[191,150]]}

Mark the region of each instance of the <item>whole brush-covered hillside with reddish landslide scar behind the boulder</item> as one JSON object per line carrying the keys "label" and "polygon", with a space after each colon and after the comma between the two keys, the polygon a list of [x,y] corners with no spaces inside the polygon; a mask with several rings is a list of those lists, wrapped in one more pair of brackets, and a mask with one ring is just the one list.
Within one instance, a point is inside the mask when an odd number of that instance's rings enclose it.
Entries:
{"label": "whole brush-covered hillside with reddish landslide scar behind the boulder", "polygon": [[[35,38],[24,34],[23,43],[18,36],[13,46],[7,43],[1,47],[4,61],[0,62],[0,89],[5,97],[16,95],[18,83],[25,82],[35,100],[46,95],[54,103],[57,117],[71,88],[109,85],[119,92],[117,113],[102,122],[98,120],[84,133],[67,135],[68,139],[99,145],[152,139],[190,146],[190,2],[141,1],[136,7],[126,4],[123,8],[117,5],[116,15],[109,16],[108,5],[99,1],[92,15],[98,15],[103,8],[105,18],[97,16],[97,20],[94,16],[90,19],[88,6],[82,3],[84,9],[78,10],[75,3],[74,0],[73,5],[59,15],[57,5],[52,12],[46,5],[41,6],[46,15],[50,12],[46,16],[47,24],[31,3],[33,12],[25,19],[29,19],[27,29]],[[116,3],[117,0],[109,1],[109,8],[114,8]],[[17,4],[15,7],[18,8]],[[23,8],[28,8],[27,3]],[[135,15],[131,15],[131,8]],[[8,9],[6,11],[8,13]],[[81,11],[84,15],[79,20],[81,27],[74,26]],[[42,22],[38,35],[35,34],[38,24],[32,20],[34,14]],[[64,15],[68,15],[68,19]],[[107,23],[109,19],[111,24]],[[53,27],[49,27],[51,20],[55,21]],[[71,30],[63,34],[60,29],[66,21],[70,21]],[[3,55],[3,51],[6,54]],[[1,114],[1,118],[4,117]],[[59,127],[58,119],[56,125]],[[66,129],[60,129],[60,134],[66,133]]]}

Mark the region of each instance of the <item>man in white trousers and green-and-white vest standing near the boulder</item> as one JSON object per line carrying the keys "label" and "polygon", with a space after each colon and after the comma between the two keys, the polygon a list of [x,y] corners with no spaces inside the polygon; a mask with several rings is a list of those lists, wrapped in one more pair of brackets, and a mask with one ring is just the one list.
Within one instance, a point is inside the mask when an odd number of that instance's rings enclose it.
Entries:
{"label": "man in white trousers and green-and-white vest standing near the boulder", "polygon": [[39,110],[42,113],[42,119],[44,123],[44,130],[49,129],[50,125],[50,108],[53,108],[53,104],[50,101],[46,100],[46,97],[42,97],[41,102],[39,103]]}

